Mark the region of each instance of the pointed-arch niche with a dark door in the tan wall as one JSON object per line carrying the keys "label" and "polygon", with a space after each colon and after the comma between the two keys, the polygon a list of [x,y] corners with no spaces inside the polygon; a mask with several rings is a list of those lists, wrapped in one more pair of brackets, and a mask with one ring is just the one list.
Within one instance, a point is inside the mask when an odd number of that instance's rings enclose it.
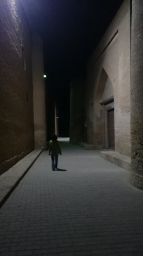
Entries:
{"label": "pointed-arch niche with a dark door in the tan wall", "polygon": [[95,92],[95,143],[100,148],[115,148],[114,88],[102,68]]}

